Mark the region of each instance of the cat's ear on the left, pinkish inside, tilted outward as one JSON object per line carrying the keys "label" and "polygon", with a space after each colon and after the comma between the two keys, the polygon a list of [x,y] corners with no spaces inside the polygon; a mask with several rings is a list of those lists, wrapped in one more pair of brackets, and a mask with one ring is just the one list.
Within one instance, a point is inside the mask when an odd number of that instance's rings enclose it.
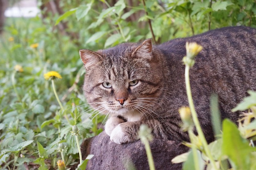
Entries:
{"label": "cat's ear on the left, pinkish inside, tilted outward", "polygon": [[103,60],[100,54],[91,50],[79,50],[79,54],[86,70],[88,70],[90,66]]}

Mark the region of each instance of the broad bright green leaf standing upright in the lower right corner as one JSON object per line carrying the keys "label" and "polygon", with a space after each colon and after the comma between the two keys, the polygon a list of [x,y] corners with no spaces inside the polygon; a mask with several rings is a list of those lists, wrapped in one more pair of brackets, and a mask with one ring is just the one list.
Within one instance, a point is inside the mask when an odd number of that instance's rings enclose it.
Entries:
{"label": "broad bright green leaf standing upright in the lower right corner", "polygon": [[228,119],[223,121],[222,152],[227,155],[234,169],[250,169],[251,152],[256,148],[249,146],[249,142],[240,136],[237,126]]}

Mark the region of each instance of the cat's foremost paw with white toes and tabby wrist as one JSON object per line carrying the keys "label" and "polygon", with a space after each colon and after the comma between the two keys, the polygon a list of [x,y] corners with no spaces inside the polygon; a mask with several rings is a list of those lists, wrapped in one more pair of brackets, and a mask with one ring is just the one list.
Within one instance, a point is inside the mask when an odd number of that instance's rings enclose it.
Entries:
{"label": "cat's foremost paw with white toes and tabby wrist", "polygon": [[118,124],[113,129],[110,140],[117,143],[128,143],[139,139],[138,130],[140,128],[140,122],[124,122]]}

